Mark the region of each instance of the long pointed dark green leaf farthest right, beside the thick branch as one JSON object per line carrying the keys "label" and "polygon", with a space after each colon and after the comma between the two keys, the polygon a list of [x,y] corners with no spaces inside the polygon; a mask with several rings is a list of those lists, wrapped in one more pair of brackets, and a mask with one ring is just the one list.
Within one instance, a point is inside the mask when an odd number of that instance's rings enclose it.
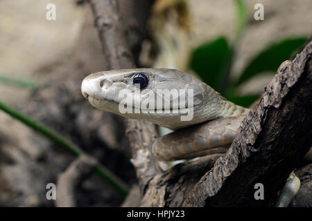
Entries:
{"label": "long pointed dark green leaf farthest right, beside the thick branch", "polygon": [[275,44],[272,44],[265,50],[259,53],[250,64],[245,68],[239,80],[236,81],[236,86],[254,77],[258,73],[264,71],[276,72],[279,65],[291,58],[293,52],[298,48],[302,47],[306,42],[307,38],[295,38],[295,39],[284,39]]}

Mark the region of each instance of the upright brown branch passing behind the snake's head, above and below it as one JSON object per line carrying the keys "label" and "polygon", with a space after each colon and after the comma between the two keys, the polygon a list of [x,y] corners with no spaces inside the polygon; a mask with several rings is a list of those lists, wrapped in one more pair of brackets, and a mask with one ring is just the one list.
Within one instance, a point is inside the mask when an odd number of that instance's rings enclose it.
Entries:
{"label": "upright brown branch passing behind the snake's head, above and below it", "polygon": [[[143,35],[143,32],[135,32],[135,35],[129,33],[130,37],[132,36],[131,39],[135,39],[132,40],[130,46],[125,30],[129,32],[131,30],[125,27],[126,23],[123,22],[123,19],[135,21],[134,18],[137,17],[137,13],[146,13],[145,16],[141,16],[144,19],[144,17],[147,17],[148,10],[146,8],[150,6],[150,3],[146,1],[146,3],[135,5],[137,1],[127,1],[126,15],[124,15],[126,17],[123,18],[119,12],[119,1],[89,0],[88,2],[92,8],[94,23],[98,28],[103,52],[106,55],[107,63],[110,64],[110,68],[135,68],[130,48],[133,48],[133,44],[137,44],[138,39],[143,37],[139,36],[140,34]],[[130,15],[131,8],[137,12]],[[133,28],[133,30],[136,31],[137,28]],[[126,120],[126,128],[126,135],[132,148],[132,163],[137,171],[141,191],[144,191],[151,178],[160,173],[162,168],[166,166],[156,162],[150,151],[151,144],[158,136],[157,131],[154,124],[135,119]]]}

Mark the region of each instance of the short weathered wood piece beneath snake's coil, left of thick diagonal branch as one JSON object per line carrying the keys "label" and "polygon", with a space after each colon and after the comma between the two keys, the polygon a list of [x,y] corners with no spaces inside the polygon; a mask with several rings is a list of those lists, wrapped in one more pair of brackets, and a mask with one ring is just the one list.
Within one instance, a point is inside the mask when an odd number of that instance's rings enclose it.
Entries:
{"label": "short weathered wood piece beneath snake's coil, left of thick diagonal branch", "polygon": [[170,170],[159,173],[148,184],[140,206],[182,206],[200,177],[214,166],[221,155],[207,155],[177,164]]}

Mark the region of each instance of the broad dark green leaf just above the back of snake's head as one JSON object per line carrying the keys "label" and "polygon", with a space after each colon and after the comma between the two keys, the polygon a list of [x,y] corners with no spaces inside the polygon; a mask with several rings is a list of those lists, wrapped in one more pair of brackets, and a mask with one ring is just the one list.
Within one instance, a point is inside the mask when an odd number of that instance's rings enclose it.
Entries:
{"label": "broad dark green leaf just above the back of snake's head", "polygon": [[230,54],[231,49],[227,40],[220,37],[199,46],[193,51],[191,68],[198,73],[206,84],[218,90]]}

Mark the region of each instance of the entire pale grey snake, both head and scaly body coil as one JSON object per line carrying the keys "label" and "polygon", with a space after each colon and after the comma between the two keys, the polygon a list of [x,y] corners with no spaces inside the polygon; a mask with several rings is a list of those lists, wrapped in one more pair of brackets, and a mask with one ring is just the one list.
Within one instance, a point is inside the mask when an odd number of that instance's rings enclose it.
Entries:
{"label": "entire pale grey snake, both head and scaly body coil", "polygon": [[[139,88],[140,99],[135,93],[137,91],[137,85],[134,84],[136,81],[141,86]],[[158,89],[170,90],[173,88],[184,92],[184,96],[191,89],[193,91],[193,106],[187,102],[182,110],[174,106],[177,97],[166,97],[166,93],[159,95]],[[119,104],[124,99],[124,95],[121,95],[122,89],[127,89],[127,95],[134,100],[132,106],[126,105],[132,110],[132,113],[121,113],[120,111]],[[148,97],[148,93],[144,92],[145,89],[154,93],[155,96]],[[85,77],[81,90],[92,106],[103,111],[116,113],[123,117],[148,120],[159,126],[175,130],[159,137],[153,143],[153,154],[162,161],[224,153],[234,140],[241,121],[250,111],[227,101],[197,77],[174,69],[137,68],[94,73]],[[154,110],[135,113],[137,108],[141,107],[142,100],[149,99],[150,102],[157,102],[154,100],[157,96],[166,100],[167,109],[162,107],[162,112],[159,113]],[[190,110],[193,118],[182,121],[181,116]]]}

